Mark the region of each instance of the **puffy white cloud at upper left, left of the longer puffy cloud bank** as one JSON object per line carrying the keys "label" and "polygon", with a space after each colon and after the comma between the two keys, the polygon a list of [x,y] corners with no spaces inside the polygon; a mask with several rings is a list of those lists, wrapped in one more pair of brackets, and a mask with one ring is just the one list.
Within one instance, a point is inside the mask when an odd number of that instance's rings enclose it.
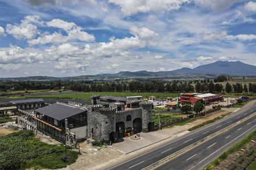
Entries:
{"label": "puffy white cloud at upper left, left of the longer puffy cloud bank", "polygon": [[31,23],[36,23],[42,25],[43,22],[40,22],[40,17],[38,15],[34,16],[26,16],[24,20],[21,20],[20,25],[6,25],[6,32],[13,35],[15,39],[22,40],[26,39],[34,39],[36,35],[40,32],[38,31],[35,25]]}

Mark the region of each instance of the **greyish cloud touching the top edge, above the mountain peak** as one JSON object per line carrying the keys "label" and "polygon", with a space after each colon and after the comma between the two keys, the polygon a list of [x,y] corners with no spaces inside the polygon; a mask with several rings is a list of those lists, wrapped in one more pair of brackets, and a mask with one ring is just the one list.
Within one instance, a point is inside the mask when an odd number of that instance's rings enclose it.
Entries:
{"label": "greyish cloud touching the top edge, above the mountain peak", "polygon": [[241,0],[193,0],[197,5],[211,8],[216,12],[222,12]]}

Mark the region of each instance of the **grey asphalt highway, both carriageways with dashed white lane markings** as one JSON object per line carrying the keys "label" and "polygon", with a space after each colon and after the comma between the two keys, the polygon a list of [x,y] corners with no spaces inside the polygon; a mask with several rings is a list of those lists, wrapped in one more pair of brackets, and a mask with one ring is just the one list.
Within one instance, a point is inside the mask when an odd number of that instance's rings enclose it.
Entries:
{"label": "grey asphalt highway, both carriageways with dashed white lane markings", "polygon": [[[154,148],[153,150],[146,153],[142,152],[141,155],[135,158],[131,158],[126,162],[112,164],[109,167],[105,167],[104,169],[143,169],[148,165],[158,162],[159,160],[166,158],[167,156],[174,154],[175,152],[191,145],[192,143],[200,141],[200,139],[203,139],[208,135],[213,134],[216,131],[225,128],[226,126],[233,124],[234,122],[238,122],[242,120],[243,118],[249,116],[250,114],[253,114],[254,112],[256,112],[256,107],[252,107],[243,112],[237,112],[236,115],[234,116],[229,116],[214,124],[210,124],[205,126],[204,128],[195,130],[194,132],[189,133],[184,137],[177,139],[174,142],[166,143],[165,145]],[[193,148],[192,150],[185,152],[180,156],[177,156],[175,159],[172,159],[169,162],[164,163],[163,165],[160,165],[160,167],[156,169],[191,169],[192,170],[192,169],[199,169],[199,167],[200,168],[204,167],[204,165],[207,165],[208,163],[210,163],[213,160],[213,158],[216,158],[218,155],[220,155],[222,151],[226,150],[228,146],[233,145],[238,140],[241,140],[244,136],[246,136],[246,134],[250,133],[250,131],[255,130],[256,129],[256,126],[254,126],[255,121],[253,121],[255,120],[255,118],[256,116],[250,118],[247,121],[241,122],[241,124],[234,126],[229,131],[222,133],[220,135],[217,135],[216,137],[210,139],[209,141],[201,143],[201,145]],[[205,150],[205,147],[208,150]],[[220,148],[220,150],[215,152],[216,148]]]}

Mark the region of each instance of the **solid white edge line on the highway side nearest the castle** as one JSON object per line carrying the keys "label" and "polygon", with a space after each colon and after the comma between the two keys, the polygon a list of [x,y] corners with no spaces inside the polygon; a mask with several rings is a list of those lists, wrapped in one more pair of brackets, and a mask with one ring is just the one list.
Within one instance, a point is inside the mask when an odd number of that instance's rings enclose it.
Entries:
{"label": "solid white edge line on the highway side nearest the castle", "polygon": [[[256,107],[256,105],[255,105],[254,107],[252,107],[252,108],[255,108],[255,107]],[[252,109],[252,108],[250,108],[250,109]],[[248,111],[248,110],[249,110],[249,109],[247,109],[246,111]],[[246,112],[246,111],[243,111],[243,112]],[[241,113],[243,113],[243,112],[241,112]],[[238,114],[241,114],[241,113],[237,113],[237,114],[234,115],[234,116],[237,116]],[[229,117],[229,118],[233,118],[234,116],[231,116],[231,117]],[[229,119],[229,118],[227,118],[227,119]],[[226,121],[227,119],[224,118],[224,120],[222,120],[222,121],[220,121],[220,122]],[[255,120],[256,120],[256,119],[255,119]],[[204,129],[201,129],[201,130],[199,130],[199,131],[202,131],[202,130],[205,130],[205,129],[207,129],[207,128],[210,128],[211,126],[220,124],[220,122],[217,122],[216,124],[210,125],[210,126],[204,128]],[[188,137],[188,136],[190,136],[190,135],[196,134],[196,133],[199,132],[199,131],[196,131],[195,133],[192,133],[192,134],[189,134],[189,135],[187,135],[187,136],[184,136],[183,138],[186,138],[186,137]],[[180,138],[180,139],[183,139],[183,138]],[[179,141],[180,139],[177,139],[176,141]],[[176,141],[174,141],[174,142],[176,142]],[[174,143],[174,142],[171,142],[171,143]],[[158,148],[155,148],[155,149],[152,150],[152,151],[155,151],[155,150],[158,150],[158,149],[161,148],[161,147],[170,145],[171,143],[167,143],[166,145],[163,145],[163,146],[160,146],[160,147],[158,147]],[[113,169],[113,168],[115,168],[115,167],[118,167],[119,165],[122,165],[122,164],[125,164],[125,163],[127,163],[127,162],[130,162],[131,160],[137,159],[137,158],[139,158],[139,157],[141,157],[141,156],[143,156],[143,155],[146,155],[146,154],[148,154],[148,153],[150,153],[150,152],[152,152],[152,151],[146,152],[145,154],[139,155],[139,156],[137,156],[137,157],[135,157],[135,158],[133,158],[133,159],[127,160],[126,162],[123,162],[123,163],[121,163],[121,164],[115,165],[114,167],[109,168],[109,169]],[[109,170],[109,169],[108,169],[108,170]]]}

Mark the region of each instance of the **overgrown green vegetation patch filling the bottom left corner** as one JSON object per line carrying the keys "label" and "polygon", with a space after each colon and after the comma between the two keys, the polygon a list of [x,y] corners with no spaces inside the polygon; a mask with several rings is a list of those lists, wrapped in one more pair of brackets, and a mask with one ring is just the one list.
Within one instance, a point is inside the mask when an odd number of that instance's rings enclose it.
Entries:
{"label": "overgrown green vegetation patch filling the bottom left corner", "polygon": [[56,169],[75,163],[78,152],[48,145],[31,130],[20,130],[0,137],[0,169]]}

